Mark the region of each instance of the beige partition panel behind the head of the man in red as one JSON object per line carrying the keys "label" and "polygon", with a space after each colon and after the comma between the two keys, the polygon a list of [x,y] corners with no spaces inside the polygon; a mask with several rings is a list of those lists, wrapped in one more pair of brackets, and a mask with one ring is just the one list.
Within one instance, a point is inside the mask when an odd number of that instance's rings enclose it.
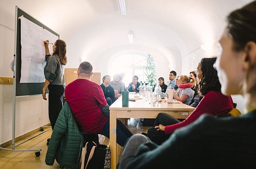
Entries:
{"label": "beige partition panel behind the head of the man in red", "polygon": [[[70,82],[77,79],[77,68],[65,68],[65,85],[67,86]],[[101,84],[100,73],[93,73],[91,81]]]}

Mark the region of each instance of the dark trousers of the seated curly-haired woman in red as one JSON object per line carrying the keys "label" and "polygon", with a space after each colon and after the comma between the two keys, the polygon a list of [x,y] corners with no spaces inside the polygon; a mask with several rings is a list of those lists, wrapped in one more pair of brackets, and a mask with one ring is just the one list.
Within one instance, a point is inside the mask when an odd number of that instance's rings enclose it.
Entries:
{"label": "dark trousers of the seated curly-haired woman in red", "polygon": [[[166,113],[159,113],[157,115],[156,121],[154,126],[156,125],[174,125],[176,123],[179,123],[180,121],[171,116],[170,114]],[[167,140],[170,137],[170,134],[165,134],[164,131],[157,130],[154,127],[149,128],[147,136],[151,141],[154,143],[157,143],[158,145],[162,144],[165,140]]]}

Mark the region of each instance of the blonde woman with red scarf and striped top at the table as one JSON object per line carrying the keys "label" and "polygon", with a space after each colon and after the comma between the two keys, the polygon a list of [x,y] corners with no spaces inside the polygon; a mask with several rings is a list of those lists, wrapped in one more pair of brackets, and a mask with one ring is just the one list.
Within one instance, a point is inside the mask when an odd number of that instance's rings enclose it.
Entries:
{"label": "blonde woman with red scarf and striped top at the table", "polygon": [[[195,94],[195,91],[191,89],[191,86],[194,86],[194,82],[195,81],[191,77],[188,77],[187,75],[181,75],[178,81],[179,88],[176,90],[176,92],[173,93],[173,98],[184,104],[189,104]],[[187,85],[182,85],[185,87],[181,88],[181,84]]]}

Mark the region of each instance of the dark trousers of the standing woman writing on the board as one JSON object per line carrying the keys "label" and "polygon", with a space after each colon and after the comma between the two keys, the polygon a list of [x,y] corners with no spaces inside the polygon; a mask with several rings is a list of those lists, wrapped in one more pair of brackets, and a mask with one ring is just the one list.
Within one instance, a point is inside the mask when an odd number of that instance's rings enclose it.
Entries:
{"label": "dark trousers of the standing woman writing on the board", "polygon": [[50,84],[48,86],[48,89],[49,89],[49,96],[48,96],[49,119],[50,119],[52,129],[54,129],[54,125],[63,107],[63,96],[64,96],[65,87],[61,85]]}

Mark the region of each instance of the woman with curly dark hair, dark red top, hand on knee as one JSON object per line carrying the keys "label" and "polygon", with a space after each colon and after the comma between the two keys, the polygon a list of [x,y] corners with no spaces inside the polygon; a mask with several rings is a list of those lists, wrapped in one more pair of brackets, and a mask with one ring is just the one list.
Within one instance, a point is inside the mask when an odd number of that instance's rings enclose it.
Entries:
{"label": "woman with curly dark hair, dark red top, hand on knee", "polygon": [[166,113],[157,115],[153,128],[148,130],[147,136],[157,144],[163,143],[176,130],[189,125],[202,114],[214,116],[226,115],[233,108],[230,96],[221,93],[221,84],[217,71],[213,65],[216,58],[203,58],[198,64],[199,94],[204,96],[195,110],[184,120],[179,121]]}

